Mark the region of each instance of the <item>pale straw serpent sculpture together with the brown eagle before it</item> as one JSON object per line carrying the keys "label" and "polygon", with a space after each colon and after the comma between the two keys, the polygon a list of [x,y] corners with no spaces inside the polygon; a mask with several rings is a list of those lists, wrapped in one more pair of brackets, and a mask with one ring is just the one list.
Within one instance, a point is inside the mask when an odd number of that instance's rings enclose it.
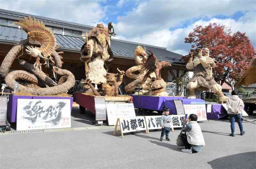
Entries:
{"label": "pale straw serpent sculpture together with the brown eagle before it", "polygon": [[[142,88],[141,94],[144,95],[168,95],[164,92],[166,83],[161,78],[160,71],[166,66],[171,66],[171,64],[169,62],[158,62],[151,51],[147,56],[145,50],[146,48],[143,49],[141,46],[135,49],[135,63],[137,66],[133,66],[125,72],[127,77],[135,80],[125,86],[125,91],[134,92],[135,87],[138,86]],[[139,74],[133,74],[135,71],[139,71]]]}

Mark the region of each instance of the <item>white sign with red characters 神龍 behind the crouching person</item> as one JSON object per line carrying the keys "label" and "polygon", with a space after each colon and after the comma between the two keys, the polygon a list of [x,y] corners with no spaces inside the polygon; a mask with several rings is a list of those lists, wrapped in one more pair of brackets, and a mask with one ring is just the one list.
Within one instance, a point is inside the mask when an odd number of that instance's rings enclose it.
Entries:
{"label": "white sign with red characters \u795e\u9f8d behind the crouching person", "polygon": [[195,105],[183,105],[185,109],[185,114],[196,114],[197,121],[205,121],[207,120],[206,117],[206,108],[205,104],[195,104]]}

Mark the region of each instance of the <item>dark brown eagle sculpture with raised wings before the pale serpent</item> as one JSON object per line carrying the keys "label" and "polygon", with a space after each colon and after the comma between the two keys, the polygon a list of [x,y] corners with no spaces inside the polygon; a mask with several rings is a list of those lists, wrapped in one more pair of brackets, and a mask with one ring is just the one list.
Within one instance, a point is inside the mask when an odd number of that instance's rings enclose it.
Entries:
{"label": "dark brown eagle sculpture with raised wings before the pale serpent", "polygon": [[143,77],[142,82],[146,82],[147,78],[152,72],[155,72],[156,74],[156,80],[162,79],[161,78],[161,69],[164,67],[172,66],[169,62],[159,62],[156,58],[156,55],[154,55],[151,51],[148,51],[148,58],[143,60],[142,63],[142,70],[148,71],[145,76]]}

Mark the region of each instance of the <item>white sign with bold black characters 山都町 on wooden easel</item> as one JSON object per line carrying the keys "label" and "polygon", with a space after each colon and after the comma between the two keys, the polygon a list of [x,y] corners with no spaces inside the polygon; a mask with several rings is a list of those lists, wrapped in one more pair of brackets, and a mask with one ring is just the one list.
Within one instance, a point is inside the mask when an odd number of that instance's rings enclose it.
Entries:
{"label": "white sign with bold black characters \u5c71\u90fd\u753a on wooden easel", "polygon": [[144,116],[120,118],[120,128],[122,133],[146,130]]}

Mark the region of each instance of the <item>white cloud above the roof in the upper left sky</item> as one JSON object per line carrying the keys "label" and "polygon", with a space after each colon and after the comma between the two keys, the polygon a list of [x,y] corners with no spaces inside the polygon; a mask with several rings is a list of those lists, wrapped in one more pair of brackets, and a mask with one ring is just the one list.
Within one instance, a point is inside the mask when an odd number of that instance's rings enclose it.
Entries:
{"label": "white cloud above the roof in the upper left sky", "polygon": [[2,1],[1,8],[32,15],[92,25],[101,22],[106,9],[95,1]]}

